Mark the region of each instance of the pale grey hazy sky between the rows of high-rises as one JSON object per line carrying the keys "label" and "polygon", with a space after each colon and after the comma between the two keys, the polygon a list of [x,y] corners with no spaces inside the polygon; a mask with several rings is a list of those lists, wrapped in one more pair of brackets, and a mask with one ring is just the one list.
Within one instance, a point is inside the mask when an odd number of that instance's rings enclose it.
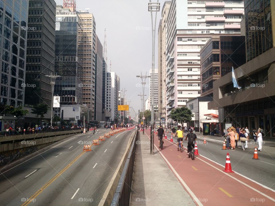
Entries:
{"label": "pale grey hazy sky between the rows of high-rises", "polygon": [[[55,0],[62,5],[63,0]],[[147,75],[152,67],[152,23],[148,11],[149,0],[76,0],[76,10],[93,13],[96,21],[96,33],[103,45],[104,29],[107,35],[108,72],[117,72],[120,77],[120,89],[126,88],[125,98],[130,99],[130,105],[135,112],[141,109],[140,94],[142,92],[141,78],[137,75]],[[157,2],[157,0],[152,1]],[[160,0],[160,12],[156,23],[156,56],[155,70],[158,69],[158,25],[164,0]],[[149,96],[149,78],[145,88]],[[128,103],[128,102],[127,102]]]}

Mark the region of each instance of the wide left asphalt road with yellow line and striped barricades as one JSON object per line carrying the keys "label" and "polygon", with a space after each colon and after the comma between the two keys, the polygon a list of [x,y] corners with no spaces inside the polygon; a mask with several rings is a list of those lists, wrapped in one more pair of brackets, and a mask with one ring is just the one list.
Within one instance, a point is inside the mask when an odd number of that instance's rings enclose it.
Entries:
{"label": "wide left asphalt road with yellow line and striped barricades", "polygon": [[[134,130],[120,132],[82,152],[109,132],[76,135],[0,175],[0,205],[98,205]],[[31,202],[25,202],[31,198]]]}

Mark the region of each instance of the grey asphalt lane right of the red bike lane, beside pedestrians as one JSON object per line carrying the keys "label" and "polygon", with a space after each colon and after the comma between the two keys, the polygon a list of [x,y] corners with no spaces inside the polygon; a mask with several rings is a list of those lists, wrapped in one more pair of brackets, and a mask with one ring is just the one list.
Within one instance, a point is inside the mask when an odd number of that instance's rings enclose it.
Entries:
{"label": "grey asphalt lane right of the red bike lane, beside pedestrians", "polygon": [[[184,138],[186,134],[187,133],[184,133]],[[197,135],[200,136],[199,134]],[[171,134],[169,136],[167,135],[167,138],[170,139],[170,136]],[[173,138],[173,140],[174,142],[177,142],[176,138]],[[187,147],[187,141],[184,141],[183,143],[183,145]],[[222,142],[212,142],[207,139],[207,144],[203,144],[203,139],[198,138],[197,146],[200,155],[203,155],[204,157],[207,157],[208,159],[223,166],[225,166],[226,154],[229,152],[233,171],[275,190],[275,147],[271,147],[273,152],[272,150],[270,152],[266,152],[264,150],[263,152],[258,152],[258,158],[260,160],[254,160],[252,158],[254,156],[255,144],[249,144],[249,148],[243,150],[239,141],[238,148],[231,151],[231,149],[222,150]]]}

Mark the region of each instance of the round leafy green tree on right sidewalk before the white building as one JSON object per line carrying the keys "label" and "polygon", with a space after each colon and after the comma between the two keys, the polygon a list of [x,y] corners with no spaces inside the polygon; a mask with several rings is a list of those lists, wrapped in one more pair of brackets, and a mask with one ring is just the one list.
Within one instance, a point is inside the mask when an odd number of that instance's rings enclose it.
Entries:
{"label": "round leafy green tree on right sidewalk before the white building", "polygon": [[172,110],[170,113],[170,118],[175,122],[179,122],[181,125],[183,123],[191,122],[194,114],[187,107],[180,107]]}

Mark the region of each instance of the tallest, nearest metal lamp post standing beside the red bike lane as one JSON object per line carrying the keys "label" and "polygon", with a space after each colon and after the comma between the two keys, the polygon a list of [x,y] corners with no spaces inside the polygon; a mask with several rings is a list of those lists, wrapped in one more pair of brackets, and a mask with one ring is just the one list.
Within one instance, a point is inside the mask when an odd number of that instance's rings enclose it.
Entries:
{"label": "tallest, nearest metal lamp post standing beside the red bike lane", "polygon": [[[151,21],[152,21],[152,90],[151,90],[151,135],[150,135],[150,152],[151,155],[154,154],[154,77],[155,77],[155,36],[156,36],[156,21],[157,21],[157,12],[160,11],[160,3],[148,3],[148,11],[151,12]],[[153,11],[155,13],[155,21],[153,20]]]}

